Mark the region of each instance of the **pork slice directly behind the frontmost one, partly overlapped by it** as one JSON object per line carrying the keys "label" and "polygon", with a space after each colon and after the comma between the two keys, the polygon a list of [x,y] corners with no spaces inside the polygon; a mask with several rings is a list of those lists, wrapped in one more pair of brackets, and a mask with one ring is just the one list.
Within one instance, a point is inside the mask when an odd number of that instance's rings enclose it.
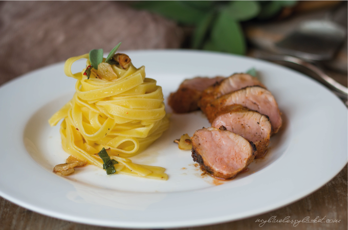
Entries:
{"label": "pork slice directly behind the frontmost one, partly overlapped by it", "polygon": [[255,158],[265,155],[272,132],[271,122],[267,116],[242,105],[231,105],[221,109],[212,122],[214,128],[221,126],[254,143]]}

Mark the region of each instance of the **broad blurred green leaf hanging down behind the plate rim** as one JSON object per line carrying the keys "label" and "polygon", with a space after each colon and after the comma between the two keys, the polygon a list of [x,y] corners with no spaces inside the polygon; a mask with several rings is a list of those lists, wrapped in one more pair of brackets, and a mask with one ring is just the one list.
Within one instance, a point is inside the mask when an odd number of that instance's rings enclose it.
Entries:
{"label": "broad blurred green leaf hanging down behind the plate rim", "polygon": [[241,26],[226,9],[219,14],[214,23],[211,41],[219,51],[245,54],[246,44]]}

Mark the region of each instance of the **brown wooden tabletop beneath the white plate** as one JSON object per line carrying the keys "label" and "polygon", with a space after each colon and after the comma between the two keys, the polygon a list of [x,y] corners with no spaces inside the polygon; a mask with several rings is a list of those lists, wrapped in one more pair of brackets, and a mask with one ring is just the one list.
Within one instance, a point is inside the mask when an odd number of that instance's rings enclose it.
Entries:
{"label": "brown wooden tabletop beneath the white plate", "polygon": [[[268,34],[266,34],[266,36],[268,36]],[[275,38],[279,37],[275,36]],[[348,86],[347,74],[336,73],[328,70],[327,72],[337,81],[345,86]],[[328,155],[329,154],[330,153],[328,153]],[[296,226],[295,229],[348,229],[348,166],[345,166],[345,168],[335,178],[333,178],[329,183],[327,183],[327,185],[324,185],[318,191],[299,201],[285,206],[284,208],[244,220],[184,229],[260,229],[260,224],[262,224],[262,222],[256,222],[256,220],[272,221],[273,217],[275,217],[277,220],[289,217],[289,220],[306,221],[306,218],[309,220],[314,220],[316,217],[318,217],[317,219],[324,218],[323,221],[327,219],[339,221],[336,223],[301,222]],[[113,228],[90,226],[47,217],[21,208],[20,206],[0,197],[0,230],[5,229],[97,230]],[[294,229],[294,226],[291,223],[266,222],[261,229]]]}

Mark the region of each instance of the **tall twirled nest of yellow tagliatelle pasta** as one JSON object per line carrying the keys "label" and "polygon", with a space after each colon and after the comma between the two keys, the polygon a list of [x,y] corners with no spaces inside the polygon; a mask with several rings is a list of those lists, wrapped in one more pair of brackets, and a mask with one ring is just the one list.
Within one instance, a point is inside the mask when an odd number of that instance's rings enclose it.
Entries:
{"label": "tall twirled nest of yellow tagliatelle pasta", "polygon": [[[87,59],[86,68],[73,74],[71,66],[81,58]],[[60,125],[63,149],[103,168],[96,153],[105,148],[119,163],[114,165],[116,173],[166,180],[164,168],[128,159],[156,141],[169,126],[161,86],[145,78],[144,66],[136,68],[131,62],[126,69],[110,65],[117,75],[114,80],[101,79],[96,70],[85,75],[90,65],[89,54],[69,58],[64,65],[64,73],[77,80],[76,93],[49,120],[55,126],[64,119]]]}

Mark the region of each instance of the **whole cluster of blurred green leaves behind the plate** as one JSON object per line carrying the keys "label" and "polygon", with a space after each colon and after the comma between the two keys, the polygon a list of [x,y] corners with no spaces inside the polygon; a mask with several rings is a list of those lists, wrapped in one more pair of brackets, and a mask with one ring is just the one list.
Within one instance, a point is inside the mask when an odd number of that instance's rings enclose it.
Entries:
{"label": "whole cluster of blurred green leaves behind the plate", "polygon": [[193,49],[244,55],[246,39],[241,22],[274,17],[298,0],[142,0],[134,5],[193,26]]}

